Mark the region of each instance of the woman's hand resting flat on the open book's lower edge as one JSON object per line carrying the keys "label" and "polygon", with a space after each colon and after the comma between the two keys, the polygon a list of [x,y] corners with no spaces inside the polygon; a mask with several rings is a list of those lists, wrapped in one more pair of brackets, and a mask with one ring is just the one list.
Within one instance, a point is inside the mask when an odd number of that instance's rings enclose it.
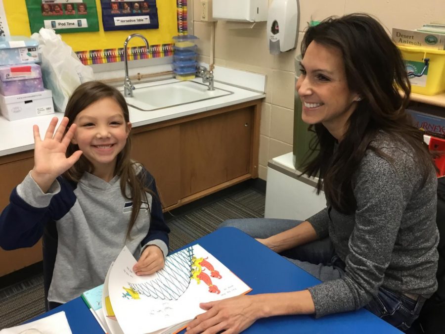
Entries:
{"label": "woman's hand resting flat on the open book's lower edge", "polygon": [[198,315],[187,325],[186,334],[240,333],[260,318],[259,303],[255,296],[241,295],[210,303],[201,303],[199,307],[207,312]]}

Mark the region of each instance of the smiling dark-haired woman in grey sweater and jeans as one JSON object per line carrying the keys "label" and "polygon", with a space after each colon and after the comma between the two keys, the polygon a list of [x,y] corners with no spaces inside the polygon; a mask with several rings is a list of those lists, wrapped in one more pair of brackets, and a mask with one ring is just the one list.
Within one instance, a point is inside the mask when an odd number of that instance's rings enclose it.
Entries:
{"label": "smiling dark-haired woman in grey sweater and jeans", "polygon": [[296,89],[317,147],[303,172],[319,177],[327,207],[304,222],[223,226],[257,238],[322,283],[203,303],[207,312],[187,333],[239,333],[263,317],[318,318],[361,307],[406,331],[437,288],[437,179],[405,112],[410,84],[398,48],[374,18],[350,14],[308,28],[301,53]]}

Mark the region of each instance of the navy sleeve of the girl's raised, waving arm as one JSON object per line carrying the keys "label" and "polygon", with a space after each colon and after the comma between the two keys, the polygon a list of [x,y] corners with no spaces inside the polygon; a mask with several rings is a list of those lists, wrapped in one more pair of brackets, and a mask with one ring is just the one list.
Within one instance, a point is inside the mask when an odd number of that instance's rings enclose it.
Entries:
{"label": "navy sleeve of the girl's raised, waving arm", "polygon": [[9,204],[0,214],[1,248],[32,247],[42,237],[45,224],[60,219],[71,209],[76,201],[72,187],[61,178],[57,180],[61,189],[45,207],[28,204],[18,194],[17,187],[12,191]]}

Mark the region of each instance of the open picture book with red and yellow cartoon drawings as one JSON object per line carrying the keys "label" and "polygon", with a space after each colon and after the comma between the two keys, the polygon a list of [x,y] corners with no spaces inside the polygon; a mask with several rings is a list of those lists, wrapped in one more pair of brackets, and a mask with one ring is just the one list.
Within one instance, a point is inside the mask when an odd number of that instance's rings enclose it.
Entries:
{"label": "open picture book with red and yellow cartoon drawings", "polygon": [[[135,275],[135,263],[124,247],[103,286],[82,296],[106,333],[177,333],[205,312],[200,303],[251,290],[199,244],[167,256],[164,269],[152,275]],[[101,302],[97,300],[100,287]],[[88,299],[92,296],[95,300]]]}

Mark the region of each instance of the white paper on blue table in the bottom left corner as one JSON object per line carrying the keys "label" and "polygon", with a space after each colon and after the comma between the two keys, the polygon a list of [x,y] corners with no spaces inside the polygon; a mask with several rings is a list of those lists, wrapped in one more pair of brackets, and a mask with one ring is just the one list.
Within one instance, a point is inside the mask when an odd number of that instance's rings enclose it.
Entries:
{"label": "white paper on blue table in the bottom left corner", "polygon": [[44,334],[72,334],[64,311],[57,312],[28,324],[6,328],[1,330],[0,334],[20,334],[23,331],[31,329],[38,330]]}

